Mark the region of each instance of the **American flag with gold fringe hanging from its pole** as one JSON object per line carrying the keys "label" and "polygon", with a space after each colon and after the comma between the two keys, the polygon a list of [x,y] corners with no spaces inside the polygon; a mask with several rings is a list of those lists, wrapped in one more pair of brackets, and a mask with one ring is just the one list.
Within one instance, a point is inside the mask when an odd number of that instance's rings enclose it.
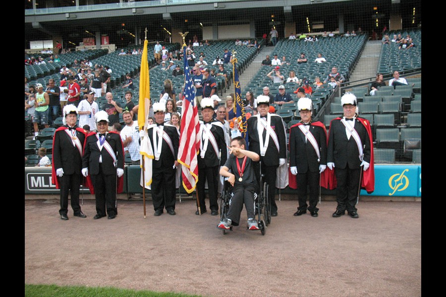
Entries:
{"label": "American flag with gold fringe hanging from its pole", "polygon": [[195,99],[195,87],[190,77],[190,70],[186,60],[186,47],[184,50],[184,96],[182,105],[181,134],[178,148],[178,162],[181,167],[183,186],[187,193],[192,193],[198,180],[197,153],[200,148],[198,131],[198,107]]}

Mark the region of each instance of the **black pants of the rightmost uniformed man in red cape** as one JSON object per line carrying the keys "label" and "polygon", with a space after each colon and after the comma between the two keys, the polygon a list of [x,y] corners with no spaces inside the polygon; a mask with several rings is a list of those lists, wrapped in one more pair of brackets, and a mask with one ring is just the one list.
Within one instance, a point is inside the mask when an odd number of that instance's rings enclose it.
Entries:
{"label": "black pants of the rightmost uniformed man in red cape", "polygon": [[348,213],[357,211],[355,206],[356,198],[358,197],[361,168],[350,169],[346,167],[345,169],[339,169],[335,167],[335,175],[337,180],[336,209],[341,212],[347,210]]}

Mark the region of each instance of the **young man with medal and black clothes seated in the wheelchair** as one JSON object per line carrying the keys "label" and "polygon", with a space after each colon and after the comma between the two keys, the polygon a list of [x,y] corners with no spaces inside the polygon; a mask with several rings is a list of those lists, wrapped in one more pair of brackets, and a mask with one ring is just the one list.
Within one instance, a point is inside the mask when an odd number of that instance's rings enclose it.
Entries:
{"label": "young man with medal and black clothes seated in the wheelchair", "polygon": [[243,203],[248,214],[248,230],[259,230],[254,213],[254,194],[258,192],[258,183],[253,162],[259,161],[260,156],[245,148],[246,142],[242,137],[233,138],[229,148],[230,156],[220,169],[220,174],[227,177],[233,187],[227,216],[218,225],[223,230],[230,229],[231,225],[238,226]]}

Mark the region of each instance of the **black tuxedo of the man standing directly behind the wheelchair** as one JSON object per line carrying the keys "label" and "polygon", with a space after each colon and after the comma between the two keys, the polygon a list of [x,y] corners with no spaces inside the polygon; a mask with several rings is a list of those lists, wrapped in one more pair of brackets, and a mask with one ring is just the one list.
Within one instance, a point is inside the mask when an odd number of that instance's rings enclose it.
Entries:
{"label": "black tuxedo of the man standing directly behind the wheelchair", "polygon": [[[257,117],[252,116],[248,119],[248,148],[250,151],[254,151],[259,154],[260,161],[262,164],[262,173],[265,174],[265,181],[269,186],[269,197],[271,202],[271,211],[277,212],[276,204],[276,169],[279,167],[279,159],[286,159],[286,135],[283,126],[282,118],[279,115],[271,115],[271,128],[276,132],[277,138],[279,140],[279,151],[270,136],[268,143],[268,148],[265,152],[265,156],[260,154],[260,140],[259,137],[266,137],[266,130],[263,130],[263,135],[259,136],[257,130]],[[260,168],[259,163],[255,162],[255,173],[257,180],[260,181]]]}

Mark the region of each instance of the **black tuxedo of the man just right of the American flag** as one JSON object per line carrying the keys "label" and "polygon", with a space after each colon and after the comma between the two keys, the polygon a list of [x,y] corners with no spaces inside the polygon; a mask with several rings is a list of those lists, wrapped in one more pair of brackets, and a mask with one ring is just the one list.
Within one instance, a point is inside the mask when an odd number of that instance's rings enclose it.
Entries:
{"label": "black tuxedo of the man just right of the American flag", "polygon": [[[214,147],[211,141],[208,142],[208,147],[206,149],[204,158],[201,157],[201,150],[198,151],[198,182],[197,182],[197,193],[200,200],[201,211],[206,210],[205,204],[205,183],[208,181],[208,193],[209,193],[209,208],[211,210],[219,209],[217,203],[217,193],[219,187],[219,166],[223,166],[227,159],[227,148],[224,138],[224,130],[222,128],[222,123],[216,119],[212,122],[218,123],[219,125],[211,124],[211,133],[217,142],[217,146],[220,150],[220,158],[217,157]],[[207,123],[209,125],[209,123]],[[202,133],[204,134],[204,132]],[[200,141],[204,144],[203,135],[200,134]]]}

